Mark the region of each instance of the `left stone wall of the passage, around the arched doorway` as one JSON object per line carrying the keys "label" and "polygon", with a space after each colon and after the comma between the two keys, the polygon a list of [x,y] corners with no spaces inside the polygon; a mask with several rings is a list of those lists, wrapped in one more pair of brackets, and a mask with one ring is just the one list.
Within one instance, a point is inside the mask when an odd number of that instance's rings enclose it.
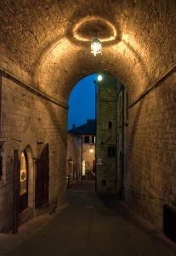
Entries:
{"label": "left stone wall of the passage, around the arched doorway", "polygon": [[48,143],[49,203],[60,205],[65,201],[67,109],[17,81],[13,77],[2,76],[0,231],[4,232],[12,227],[14,149],[19,150],[20,157],[29,146],[35,159]]}

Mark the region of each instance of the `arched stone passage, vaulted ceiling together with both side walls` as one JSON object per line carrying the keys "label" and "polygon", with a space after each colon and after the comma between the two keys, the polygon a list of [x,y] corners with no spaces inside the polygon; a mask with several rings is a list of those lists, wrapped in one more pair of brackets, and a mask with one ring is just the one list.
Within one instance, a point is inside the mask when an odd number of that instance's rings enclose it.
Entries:
{"label": "arched stone passage, vaulted ceiling together with both side walls", "polygon": [[[175,204],[175,1],[1,1],[3,143],[1,225],[9,225],[14,148],[31,125],[37,152],[49,143],[51,197],[65,199],[67,102],[79,79],[99,71],[128,90],[125,200],[162,229]],[[15,14],[15,15],[14,15]],[[94,30],[103,54],[90,53]],[[9,186],[7,186],[7,184]],[[3,203],[2,203],[3,206]]]}

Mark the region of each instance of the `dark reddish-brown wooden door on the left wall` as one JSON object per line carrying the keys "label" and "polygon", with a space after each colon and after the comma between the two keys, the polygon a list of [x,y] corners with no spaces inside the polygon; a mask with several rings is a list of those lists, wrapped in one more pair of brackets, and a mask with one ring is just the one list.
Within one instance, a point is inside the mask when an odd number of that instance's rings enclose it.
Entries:
{"label": "dark reddish-brown wooden door on the left wall", "polygon": [[48,204],[48,145],[43,149],[40,158],[36,163],[36,208],[42,208],[43,205]]}

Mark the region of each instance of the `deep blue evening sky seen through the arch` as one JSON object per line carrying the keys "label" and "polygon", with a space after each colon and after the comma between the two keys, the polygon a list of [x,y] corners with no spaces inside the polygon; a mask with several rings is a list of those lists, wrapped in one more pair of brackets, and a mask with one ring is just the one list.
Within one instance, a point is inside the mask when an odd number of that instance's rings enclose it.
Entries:
{"label": "deep blue evening sky seen through the arch", "polygon": [[90,75],[80,80],[69,98],[68,130],[72,124],[76,126],[85,124],[87,119],[95,118],[95,84],[97,75]]}

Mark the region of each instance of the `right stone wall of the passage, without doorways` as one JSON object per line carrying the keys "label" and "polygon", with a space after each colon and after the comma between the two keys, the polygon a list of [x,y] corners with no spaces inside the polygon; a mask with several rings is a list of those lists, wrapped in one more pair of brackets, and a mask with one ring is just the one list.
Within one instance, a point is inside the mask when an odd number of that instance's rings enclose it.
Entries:
{"label": "right stone wall of the passage, without doorways", "polygon": [[163,205],[176,211],[176,73],[129,108],[125,126],[125,201],[162,230]]}

